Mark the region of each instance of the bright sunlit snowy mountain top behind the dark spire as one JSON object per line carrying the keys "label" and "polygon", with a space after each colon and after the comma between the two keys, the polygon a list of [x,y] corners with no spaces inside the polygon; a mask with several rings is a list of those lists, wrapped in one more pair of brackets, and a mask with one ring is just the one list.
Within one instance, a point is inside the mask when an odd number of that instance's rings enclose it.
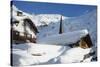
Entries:
{"label": "bright sunlit snowy mountain top behind the dark spire", "polygon": [[[50,24],[51,22],[59,22],[61,15],[60,14],[39,14],[36,15],[40,23]],[[62,20],[67,17],[62,16]]]}

